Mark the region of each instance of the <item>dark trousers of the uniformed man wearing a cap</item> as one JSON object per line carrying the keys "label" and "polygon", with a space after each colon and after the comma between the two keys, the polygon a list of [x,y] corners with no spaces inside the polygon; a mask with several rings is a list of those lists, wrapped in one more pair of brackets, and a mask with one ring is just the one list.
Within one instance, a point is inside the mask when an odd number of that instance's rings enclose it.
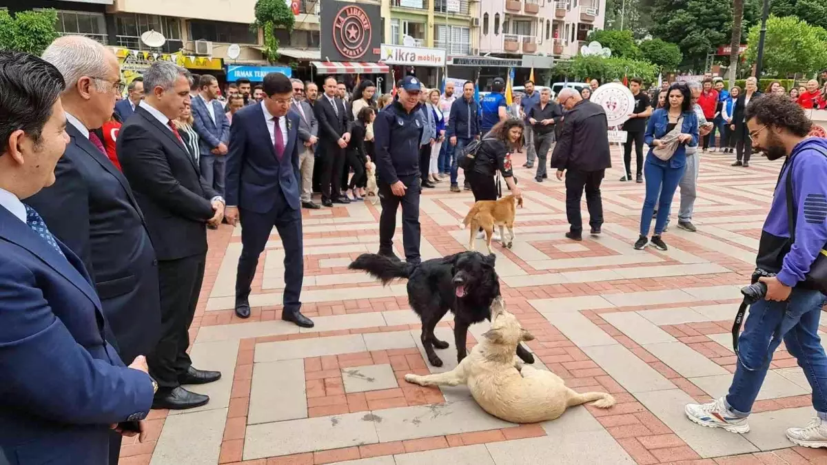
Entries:
{"label": "dark trousers of the uniformed man wearing a cap", "polygon": [[379,199],[382,203],[382,214],[379,218],[379,252],[391,253],[394,251],[394,232],[396,230],[396,210],[402,205],[402,243],[405,248],[405,259],[409,263],[419,263],[419,194],[422,188],[419,185],[419,176],[411,175],[399,178],[408,188],[402,197],[397,197],[390,190],[390,185],[379,183]]}

